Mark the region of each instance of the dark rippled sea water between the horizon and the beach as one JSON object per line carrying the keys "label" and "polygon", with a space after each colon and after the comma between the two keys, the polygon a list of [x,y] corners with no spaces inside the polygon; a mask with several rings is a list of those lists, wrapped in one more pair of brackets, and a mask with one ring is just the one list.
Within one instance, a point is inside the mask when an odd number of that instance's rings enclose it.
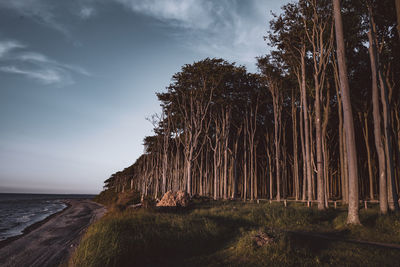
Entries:
{"label": "dark rippled sea water between the horizon and the beach", "polygon": [[65,209],[65,199],[93,197],[94,195],[0,193],[0,241],[21,235],[32,224]]}

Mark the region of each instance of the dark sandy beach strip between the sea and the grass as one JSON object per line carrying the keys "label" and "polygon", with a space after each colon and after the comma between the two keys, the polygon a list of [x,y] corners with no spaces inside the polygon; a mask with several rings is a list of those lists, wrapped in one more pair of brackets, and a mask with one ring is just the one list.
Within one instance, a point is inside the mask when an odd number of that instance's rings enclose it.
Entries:
{"label": "dark sandy beach strip between the sea and the grass", "polygon": [[87,227],[106,209],[90,200],[65,200],[64,211],[39,222],[0,248],[0,266],[58,266],[78,244]]}

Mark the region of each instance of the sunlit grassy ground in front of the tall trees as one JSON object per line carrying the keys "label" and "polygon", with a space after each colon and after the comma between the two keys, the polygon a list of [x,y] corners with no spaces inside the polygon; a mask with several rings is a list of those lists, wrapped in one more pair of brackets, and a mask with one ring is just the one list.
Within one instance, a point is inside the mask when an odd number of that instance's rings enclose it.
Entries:
{"label": "sunlit grassy ground in front of the tall trees", "polygon": [[[396,266],[400,250],[298,234],[335,234],[400,244],[400,217],[360,211],[348,227],[343,209],[318,212],[301,204],[206,202],[189,209],[108,213],[89,227],[73,266]],[[276,240],[257,247],[265,232]]]}

